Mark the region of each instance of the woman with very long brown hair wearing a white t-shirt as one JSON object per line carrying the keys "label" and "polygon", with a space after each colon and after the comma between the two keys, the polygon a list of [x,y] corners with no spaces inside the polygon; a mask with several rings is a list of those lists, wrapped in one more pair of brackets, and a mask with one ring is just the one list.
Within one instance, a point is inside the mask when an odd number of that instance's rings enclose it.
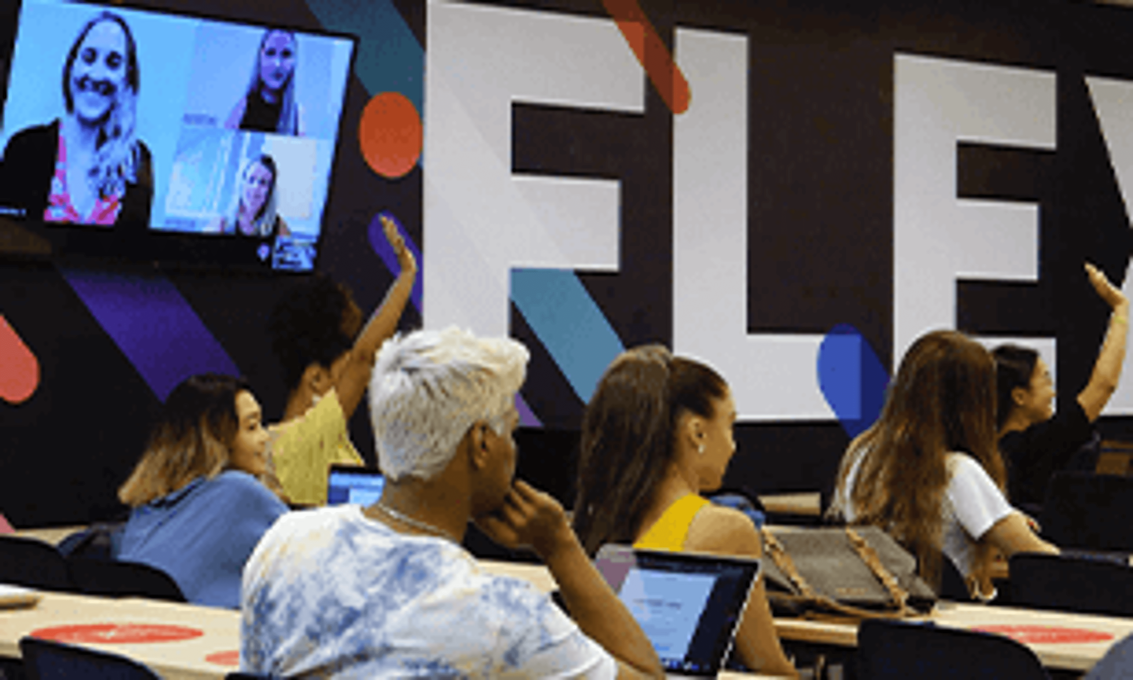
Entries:
{"label": "woman with very long brown hair wearing a white t-shirt", "polygon": [[942,553],[969,592],[995,596],[996,551],[1057,552],[1004,496],[996,447],[995,361],[962,333],[936,330],[905,352],[877,422],[850,442],[832,514],[885,528],[940,582]]}

